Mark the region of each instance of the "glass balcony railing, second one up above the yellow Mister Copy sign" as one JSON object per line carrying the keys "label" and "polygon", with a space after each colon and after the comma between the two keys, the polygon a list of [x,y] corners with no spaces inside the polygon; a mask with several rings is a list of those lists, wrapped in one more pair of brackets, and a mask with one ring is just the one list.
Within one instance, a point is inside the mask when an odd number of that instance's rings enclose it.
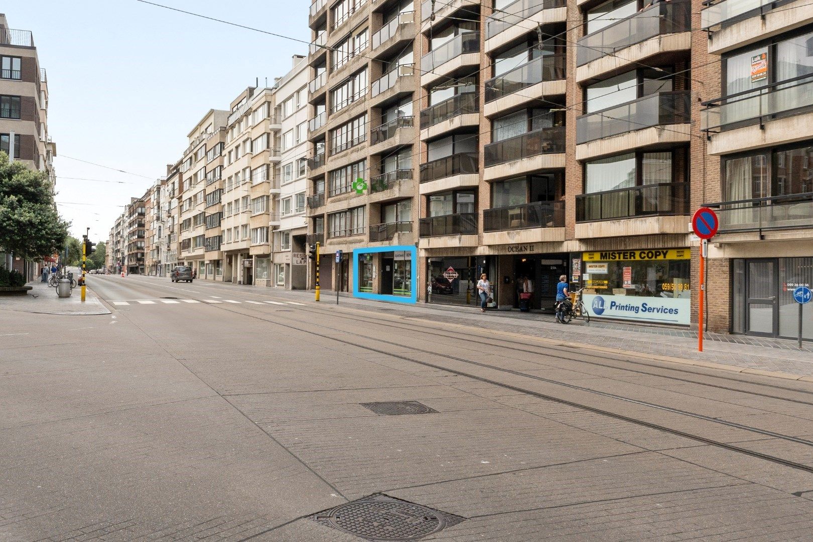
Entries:
{"label": "glass balcony railing, second one up above the yellow Mister Copy sign", "polygon": [[576,143],[617,136],[652,126],[689,124],[691,91],[673,90],[650,94],[634,102],[576,119]]}

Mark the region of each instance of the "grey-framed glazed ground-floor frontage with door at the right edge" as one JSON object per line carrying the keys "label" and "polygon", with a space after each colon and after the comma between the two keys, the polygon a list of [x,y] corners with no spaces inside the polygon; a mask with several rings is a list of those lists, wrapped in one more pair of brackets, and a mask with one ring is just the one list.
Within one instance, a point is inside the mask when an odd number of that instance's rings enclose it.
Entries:
{"label": "grey-framed glazed ground-floor frontage with door at the right edge", "polygon": [[[813,258],[733,260],[732,331],[747,335],[798,337],[793,290],[813,284]],[[802,339],[813,340],[813,307],[802,311]]]}

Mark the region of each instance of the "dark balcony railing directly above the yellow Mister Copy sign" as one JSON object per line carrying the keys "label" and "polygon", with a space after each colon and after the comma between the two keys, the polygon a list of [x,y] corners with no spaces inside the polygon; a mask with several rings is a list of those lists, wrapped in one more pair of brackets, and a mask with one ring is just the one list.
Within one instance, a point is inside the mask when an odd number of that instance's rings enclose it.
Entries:
{"label": "dark balcony railing directly above the yellow Mister Copy sign", "polygon": [[576,196],[576,222],[689,213],[689,184],[645,184]]}

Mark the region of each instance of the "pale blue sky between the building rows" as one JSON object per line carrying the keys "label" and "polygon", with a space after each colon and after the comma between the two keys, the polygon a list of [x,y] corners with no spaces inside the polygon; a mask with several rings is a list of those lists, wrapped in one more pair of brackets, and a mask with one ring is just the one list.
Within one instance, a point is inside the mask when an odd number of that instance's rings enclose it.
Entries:
{"label": "pale blue sky between the building rows", "polygon": [[[307,0],[154,2],[310,37]],[[180,158],[189,145],[186,134],[207,111],[228,109],[257,78],[261,86],[266,79],[273,84],[293,67],[294,54],[307,54],[306,43],[137,0],[11,2],[0,11],[10,28],[33,32],[48,74],[59,213],[72,222],[73,236],[90,228],[94,242],[107,241],[131,196],[166,175],[167,163]]]}

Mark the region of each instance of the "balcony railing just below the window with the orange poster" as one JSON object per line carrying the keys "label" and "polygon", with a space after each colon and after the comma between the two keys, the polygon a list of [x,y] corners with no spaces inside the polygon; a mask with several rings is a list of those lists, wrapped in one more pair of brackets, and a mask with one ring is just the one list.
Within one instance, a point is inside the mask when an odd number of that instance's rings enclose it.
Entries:
{"label": "balcony railing just below the window with the orange poster", "polygon": [[813,79],[807,75],[707,102],[706,109],[701,111],[700,129],[763,124],[797,114],[811,105]]}

